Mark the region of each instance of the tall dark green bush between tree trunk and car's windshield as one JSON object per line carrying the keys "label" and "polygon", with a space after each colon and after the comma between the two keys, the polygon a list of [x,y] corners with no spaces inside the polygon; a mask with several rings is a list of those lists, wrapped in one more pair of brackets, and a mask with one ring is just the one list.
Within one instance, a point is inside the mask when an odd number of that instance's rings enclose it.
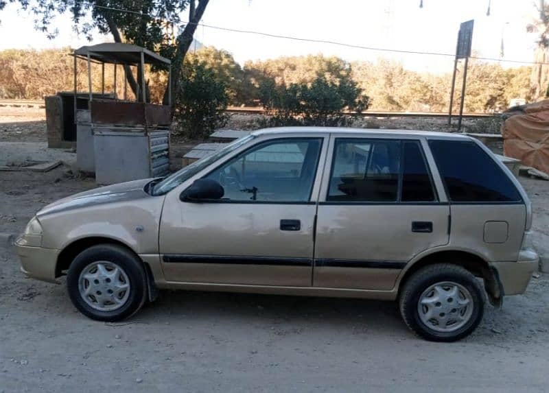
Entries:
{"label": "tall dark green bush between tree trunk and car's windshield", "polygon": [[205,139],[228,120],[222,111],[229,99],[224,82],[201,62],[185,62],[174,118],[176,131],[191,139]]}

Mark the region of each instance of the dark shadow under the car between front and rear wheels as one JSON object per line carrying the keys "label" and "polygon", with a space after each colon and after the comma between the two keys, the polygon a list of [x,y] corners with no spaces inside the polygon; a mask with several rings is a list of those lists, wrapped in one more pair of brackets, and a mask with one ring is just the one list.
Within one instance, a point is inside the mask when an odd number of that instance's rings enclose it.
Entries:
{"label": "dark shadow under the car between front and rear wheels", "polygon": [[[169,315],[166,318],[166,315]],[[340,333],[360,331],[404,332],[397,303],[352,298],[318,298],[240,294],[231,292],[161,291],[159,298],[146,305],[135,318],[146,321],[161,318],[178,319],[185,315],[191,320],[285,324],[292,326],[316,325],[336,329]]]}

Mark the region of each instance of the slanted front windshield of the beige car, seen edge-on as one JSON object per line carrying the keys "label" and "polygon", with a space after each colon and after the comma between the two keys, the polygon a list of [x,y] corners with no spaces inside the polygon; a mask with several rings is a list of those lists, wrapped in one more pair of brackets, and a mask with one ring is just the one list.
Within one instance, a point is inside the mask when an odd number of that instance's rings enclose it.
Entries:
{"label": "slanted front windshield of the beige car, seen edge-on", "polygon": [[200,172],[208,165],[233,152],[238,147],[244,145],[244,143],[247,143],[254,138],[255,136],[253,135],[244,136],[244,138],[237,139],[233,143],[230,143],[229,145],[223,147],[221,150],[218,150],[217,152],[211,154],[211,156],[200,158],[200,160],[197,160],[194,163],[180,169],[179,171],[174,172],[173,174],[167,176],[167,178],[159,182],[159,184],[156,184],[154,186],[154,189],[152,190],[152,195],[163,195],[167,192],[172,191],[172,189],[176,188],[179,184],[185,182],[185,180],[189,179],[191,176],[198,174],[198,172]]}

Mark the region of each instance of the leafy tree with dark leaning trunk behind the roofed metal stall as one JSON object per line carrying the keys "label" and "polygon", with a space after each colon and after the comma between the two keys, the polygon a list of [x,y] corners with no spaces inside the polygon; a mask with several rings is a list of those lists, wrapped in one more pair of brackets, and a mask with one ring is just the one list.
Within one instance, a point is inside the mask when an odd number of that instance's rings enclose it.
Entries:
{"label": "leafy tree with dark leaning trunk behind the roofed metal stall", "polygon": [[[23,10],[30,10],[37,16],[36,28],[47,36],[57,34],[51,21],[57,14],[70,13],[77,32],[91,38],[93,29],[103,34],[112,34],[116,43],[123,41],[159,51],[172,60],[172,91],[178,91],[181,65],[191,45],[198,22],[202,18],[209,0],[10,0],[19,2]],[[0,0],[0,9],[5,0]],[[183,27],[180,15],[188,8],[189,22]],[[173,39],[170,26],[183,27]],[[128,84],[135,93],[141,75],[134,75],[126,69]],[[140,88],[139,91],[143,91]],[[163,97],[167,103],[168,89]]]}

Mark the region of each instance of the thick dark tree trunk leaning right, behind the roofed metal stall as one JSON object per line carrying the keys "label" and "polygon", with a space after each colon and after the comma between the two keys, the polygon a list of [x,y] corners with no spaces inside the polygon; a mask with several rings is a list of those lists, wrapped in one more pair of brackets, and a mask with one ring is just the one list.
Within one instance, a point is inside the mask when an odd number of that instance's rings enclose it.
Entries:
{"label": "thick dark tree trunk leaning right, behind the roofed metal stall", "polygon": [[[185,55],[191,46],[193,41],[194,32],[198,27],[198,22],[202,19],[202,14],[206,10],[209,0],[198,0],[198,6],[195,5],[196,0],[191,0],[189,3],[189,23],[183,29],[183,32],[177,37],[177,49],[174,60],[172,60],[172,95],[176,97],[181,80],[181,68],[183,67],[183,60]],[[163,104],[167,105],[170,101],[169,97],[170,89],[166,89],[163,98]],[[175,99],[172,99],[172,108],[175,104]]]}

